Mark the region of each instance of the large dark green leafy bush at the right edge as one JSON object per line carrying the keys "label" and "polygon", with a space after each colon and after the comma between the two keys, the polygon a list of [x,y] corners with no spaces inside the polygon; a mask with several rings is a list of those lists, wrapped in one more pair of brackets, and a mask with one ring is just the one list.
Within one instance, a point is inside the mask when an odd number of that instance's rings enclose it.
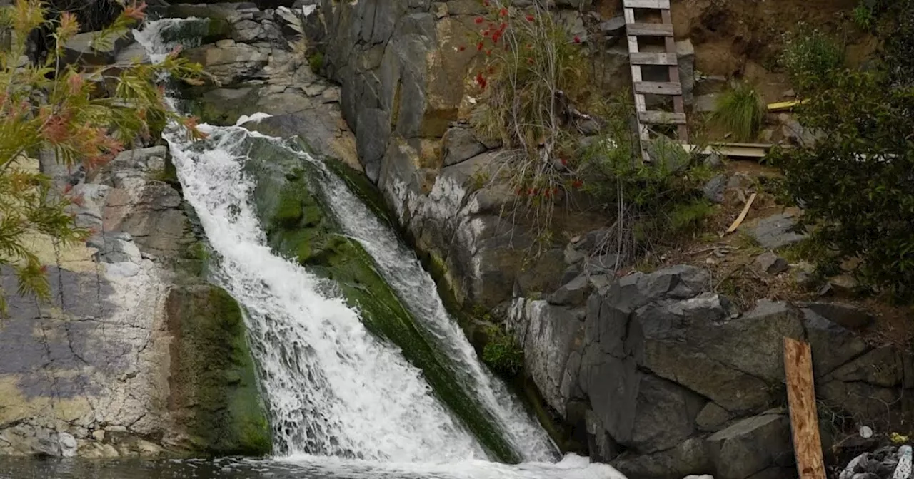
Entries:
{"label": "large dark green leafy bush at the right edge", "polygon": [[[898,24],[914,15],[912,0],[898,8]],[[914,84],[897,56],[911,43],[889,39],[866,71],[792,71],[803,86],[799,120],[819,140],[777,155],[813,240],[861,258],[861,279],[904,299],[914,297]]]}

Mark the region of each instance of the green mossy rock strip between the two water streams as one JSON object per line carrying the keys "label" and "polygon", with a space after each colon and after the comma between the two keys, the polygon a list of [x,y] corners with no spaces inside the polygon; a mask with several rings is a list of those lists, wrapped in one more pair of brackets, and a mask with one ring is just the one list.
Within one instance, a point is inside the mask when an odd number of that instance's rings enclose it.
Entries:
{"label": "green mossy rock strip between the two water streams", "polygon": [[[254,203],[271,248],[313,274],[333,280],[345,300],[358,307],[366,328],[401,348],[406,359],[423,371],[441,401],[494,457],[508,463],[518,462],[520,457],[498,422],[473,397],[473,392],[463,387],[443,354],[423,337],[396,291],[378,273],[371,255],[358,242],[342,234],[316,186],[324,179],[320,167],[301,159],[271,161],[270,146],[262,145],[263,151],[255,148],[258,154],[251,158],[260,161],[250,161],[246,169],[256,178]],[[342,163],[328,165],[335,172],[345,168]],[[385,217],[383,201],[378,197],[372,206],[371,189],[358,184],[358,175],[344,171],[340,177],[360,192],[369,207]]]}

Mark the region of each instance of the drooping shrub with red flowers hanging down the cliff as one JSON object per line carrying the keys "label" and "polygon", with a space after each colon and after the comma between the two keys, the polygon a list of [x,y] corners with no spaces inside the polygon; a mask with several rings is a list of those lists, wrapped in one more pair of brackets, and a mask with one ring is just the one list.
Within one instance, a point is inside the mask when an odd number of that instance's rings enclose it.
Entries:
{"label": "drooping shrub with red flowers hanging down the cliff", "polygon": [[540,233],[538,245],[547,245],[556,203],[581,185],[572,156],[579,135],[569,121],[572,102],[587,87],[581,38],[538,3],[526,10],[484,4],[488,14],[474,19],[481,31],[473,47],[485,59],[475,76],[485,105],[476,126],[506,147],[486,181],[515,192],[515,206]]}

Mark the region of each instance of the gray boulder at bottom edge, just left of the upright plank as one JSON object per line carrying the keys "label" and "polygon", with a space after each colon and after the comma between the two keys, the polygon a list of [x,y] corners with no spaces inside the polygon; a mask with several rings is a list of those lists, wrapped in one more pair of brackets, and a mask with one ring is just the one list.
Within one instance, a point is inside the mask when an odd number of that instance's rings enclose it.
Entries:
{"label": "gray boulder at bottom edge, just left of the upright plank", "polygon": [[789,463],[790,418],[763,414],[744,419],[709,436],[707,450],[717,479],[747,479],[772,465]]}

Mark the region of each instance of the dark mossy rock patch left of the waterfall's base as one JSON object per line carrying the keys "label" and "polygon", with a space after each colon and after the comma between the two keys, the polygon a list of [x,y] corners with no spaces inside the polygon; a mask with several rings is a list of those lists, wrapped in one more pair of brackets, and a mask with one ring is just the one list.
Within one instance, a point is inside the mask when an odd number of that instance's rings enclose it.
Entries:
{"label": "dark mossy rock patch left of the waterfall's base", "polygon": [[191,449],[212,455],[271,453],[267,420],[241,308],[211,285],[175,287],[166,303],[169,407]]}

